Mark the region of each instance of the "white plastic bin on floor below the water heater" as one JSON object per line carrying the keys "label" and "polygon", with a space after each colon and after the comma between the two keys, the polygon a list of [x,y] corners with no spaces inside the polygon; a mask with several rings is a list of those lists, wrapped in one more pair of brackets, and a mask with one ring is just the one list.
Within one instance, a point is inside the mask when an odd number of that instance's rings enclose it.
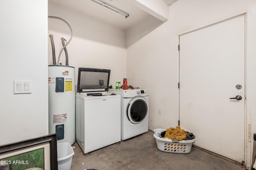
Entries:
{"label": "white plastic bin on floor below the water heater", "polygon": [[62,142],[57,143],[58,152],[58,169],[59,170],[70,170],[72,164],[72,158],[74,150],[70,143]]}

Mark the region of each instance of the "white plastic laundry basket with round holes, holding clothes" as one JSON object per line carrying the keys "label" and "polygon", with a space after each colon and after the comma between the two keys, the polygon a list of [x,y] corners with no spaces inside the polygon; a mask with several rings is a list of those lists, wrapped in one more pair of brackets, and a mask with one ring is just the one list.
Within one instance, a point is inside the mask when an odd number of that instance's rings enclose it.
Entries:
{"label": "white plastic laundry basket with round holes, holding clothes", "polygon": [[156,145],[157,148],[163,152],[170,152],[170,153],[180,153],[186,154],[191,151],[192,143],[196,141],[196,139],[192,140],[172,140],[168,138],[160,138],[158,137],[166,129],[155,129],[153,131],[154,138],[156,138]]}

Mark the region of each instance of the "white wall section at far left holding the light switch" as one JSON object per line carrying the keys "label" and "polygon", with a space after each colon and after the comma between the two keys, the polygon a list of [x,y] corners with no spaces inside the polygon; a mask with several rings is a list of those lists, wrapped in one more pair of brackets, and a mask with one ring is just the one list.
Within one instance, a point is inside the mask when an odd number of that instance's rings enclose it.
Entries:
{"label": "white wall section at far left holding the light switch", "polygon": [[[48,134],[47,1],[0,2],[0,145]],[[14,94],[32,80],[32,94]]]}

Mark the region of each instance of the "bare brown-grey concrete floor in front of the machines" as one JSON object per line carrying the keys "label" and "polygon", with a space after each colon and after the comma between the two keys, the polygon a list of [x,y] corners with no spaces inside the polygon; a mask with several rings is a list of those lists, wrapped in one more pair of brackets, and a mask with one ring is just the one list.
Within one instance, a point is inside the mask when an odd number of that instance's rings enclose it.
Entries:
{"label": "bare brown-grey concrete floor in front of the machines", "polygon": [[151,130],[87,154],[77,142],[72,147],[75,154],[71,170],[245,170],[240,164],[196,147],[188,154],[162,152],[157,149]]}

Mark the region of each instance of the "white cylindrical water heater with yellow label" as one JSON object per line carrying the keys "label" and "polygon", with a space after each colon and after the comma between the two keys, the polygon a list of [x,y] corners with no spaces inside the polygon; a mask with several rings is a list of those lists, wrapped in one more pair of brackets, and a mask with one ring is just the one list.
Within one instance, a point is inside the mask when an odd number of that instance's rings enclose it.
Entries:
{"label": "white cylindrical water heater with yellow label", "polygon": [[75,68],[48,65],[49,134],[57,142],[75,143]]}

